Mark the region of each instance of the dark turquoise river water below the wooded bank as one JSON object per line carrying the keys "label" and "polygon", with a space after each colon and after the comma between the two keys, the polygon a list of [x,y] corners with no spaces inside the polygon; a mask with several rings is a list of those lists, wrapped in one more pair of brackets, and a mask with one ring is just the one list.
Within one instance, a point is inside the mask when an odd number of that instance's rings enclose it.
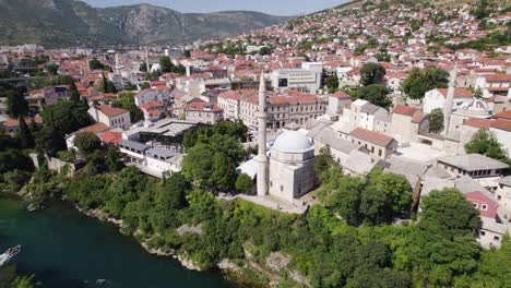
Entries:
{"label": "dark turquoise river water below the wooded bank", "polygon": [[229,288],[218,273],[191,272],[169,257],[146,253],[116,227],[83,216],[67,203],[27,213],[0,197],[0,251],[21,244],[13,260],[44,288]]}

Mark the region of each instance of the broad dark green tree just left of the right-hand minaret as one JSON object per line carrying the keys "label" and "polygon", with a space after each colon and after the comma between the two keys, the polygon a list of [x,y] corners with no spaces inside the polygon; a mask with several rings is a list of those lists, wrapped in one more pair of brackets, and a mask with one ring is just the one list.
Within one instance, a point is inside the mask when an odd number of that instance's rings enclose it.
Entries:
{"label": "broad dark green tree just left of the right-hand minaret", "polygon": [[403,81],[401,89],[412,99],[421,99],[426,92],[435,88],[445,88],[449,83],[449,72],[428,67],[425,70],[414,68]]}

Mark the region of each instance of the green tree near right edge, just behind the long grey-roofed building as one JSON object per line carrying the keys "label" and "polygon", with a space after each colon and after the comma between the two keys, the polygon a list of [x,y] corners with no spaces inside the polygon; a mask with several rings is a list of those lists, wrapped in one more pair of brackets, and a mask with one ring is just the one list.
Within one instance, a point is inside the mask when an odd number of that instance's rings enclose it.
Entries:
{"label": "green tree near right edge, just behind the long grey-roofed building", "polygon": [[510,163],[508,152],[502,147],[502,144],[497,140],[497,136],[483,129],[477,131],[472,140],[465,144],[465,152],[468,154],[475,153],[485,155],[503,163]]}

